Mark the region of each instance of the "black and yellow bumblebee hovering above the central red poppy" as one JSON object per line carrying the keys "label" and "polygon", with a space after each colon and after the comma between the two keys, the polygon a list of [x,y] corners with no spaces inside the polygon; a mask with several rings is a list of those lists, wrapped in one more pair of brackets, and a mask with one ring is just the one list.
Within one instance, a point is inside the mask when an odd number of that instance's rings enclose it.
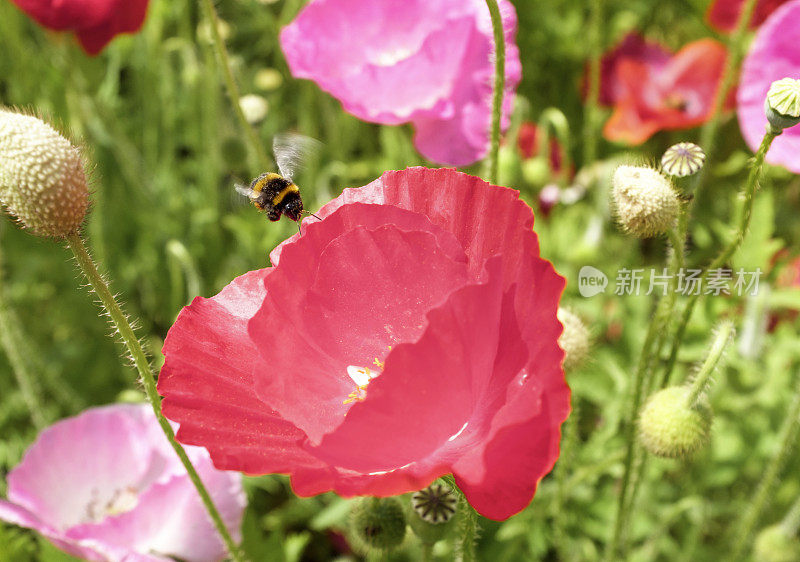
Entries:
{"label": "black and yellow bumblebee hovering above the central red poppy", "polygon": [[314,139],[301,135],[276,136],[272,140],[272,150],[280,173],[261,174],[249,186],[236,185],[236,191],[249,198],[259,211],[267,213],[269,220],[277,221],[281,215],[286,215],[299,226],[303,213],[312,213],[303,210],[300,188],[292,181],[292,176],[317,144]]}

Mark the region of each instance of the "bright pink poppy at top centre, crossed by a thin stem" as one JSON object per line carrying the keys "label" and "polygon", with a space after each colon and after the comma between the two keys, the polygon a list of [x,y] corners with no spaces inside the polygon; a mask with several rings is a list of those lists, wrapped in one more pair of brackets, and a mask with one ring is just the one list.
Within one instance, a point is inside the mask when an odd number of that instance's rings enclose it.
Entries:
{"label": "bright pink poppy at top centre, crossed by a thin stem", "polygon": [[[499,4],[506,126],[522,67],[514,7]],[[411,122],[426,158],[464,166],[486,154],[494,64],[483,0],[312,0],[280,40],[294,76],[313,80],[365,121]]]}

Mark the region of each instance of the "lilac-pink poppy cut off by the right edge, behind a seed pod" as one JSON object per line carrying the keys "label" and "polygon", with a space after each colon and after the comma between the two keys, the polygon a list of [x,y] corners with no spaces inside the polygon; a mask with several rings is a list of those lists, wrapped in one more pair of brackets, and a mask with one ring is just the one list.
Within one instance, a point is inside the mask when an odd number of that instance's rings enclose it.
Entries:
{"label": "lilac-pink poppy cut off by the right edge, behind a seed pod", "polygon": [[[767,118],[764,100],[770,84],[800,78],[800,0],[781,6],[762,25],[742,65],[736,97],[739,128],[747,146],[758,150]],[[784,129],[767,153],[767,162],[800,174],[800,126]]]}

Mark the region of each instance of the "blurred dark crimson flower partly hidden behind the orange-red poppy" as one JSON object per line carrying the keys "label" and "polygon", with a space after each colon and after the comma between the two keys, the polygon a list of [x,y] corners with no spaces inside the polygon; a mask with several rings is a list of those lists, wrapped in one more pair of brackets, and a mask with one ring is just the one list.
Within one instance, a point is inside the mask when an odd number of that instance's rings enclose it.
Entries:
{"label": "blurred dark crimson flower partly hidden behind the orange-red poppy", "polygon": [[[669,62],[671,53],[654,41],[648,41],[638,33],[628,33],[616,47],[603,55],[600,61],[600,97],[604,106],[613,106],[624,92],[617,78],[617,67],[623,60],[632,60],[660,71]],[[584,83],[586,80],[584,80]]]}

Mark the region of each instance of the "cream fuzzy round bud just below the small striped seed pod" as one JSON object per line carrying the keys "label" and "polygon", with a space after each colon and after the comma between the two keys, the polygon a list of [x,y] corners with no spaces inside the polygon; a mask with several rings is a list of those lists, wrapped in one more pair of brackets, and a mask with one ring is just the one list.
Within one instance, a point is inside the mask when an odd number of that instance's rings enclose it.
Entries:
{"label": "cream fuzzy round bud just below the small striped seed pod", "polygon": [[664,234],[675,224],[680,203],[667,178],[644,166],[620,166],[612,180],[612,198],[622,228],[638,237]]}

